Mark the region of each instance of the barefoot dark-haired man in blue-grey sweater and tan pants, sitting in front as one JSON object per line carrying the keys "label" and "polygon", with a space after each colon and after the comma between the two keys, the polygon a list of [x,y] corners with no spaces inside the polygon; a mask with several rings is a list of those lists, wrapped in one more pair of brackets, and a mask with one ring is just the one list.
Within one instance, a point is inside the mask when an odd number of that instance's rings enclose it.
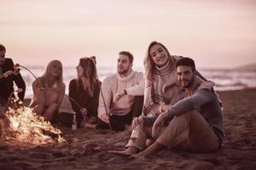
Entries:
{"label": "barefoot dark-haired man in blue-grey sweater and tan pants, sitting in front", "polygon": [[[159,116],[141,116],[133,124],[138,131],[137,139],[130,139],[126,150],[113,153],[139,157],[152,155],[163,148],[192,152],[220,149],[224,123],[218,96],[209,87],[209,82],[196,79],[193,59],[178,59],[176,71],[177,81],[187,97]],[[147,137],[156,141],[143,150]],[[138,151],[142,152],[137,154]]]}

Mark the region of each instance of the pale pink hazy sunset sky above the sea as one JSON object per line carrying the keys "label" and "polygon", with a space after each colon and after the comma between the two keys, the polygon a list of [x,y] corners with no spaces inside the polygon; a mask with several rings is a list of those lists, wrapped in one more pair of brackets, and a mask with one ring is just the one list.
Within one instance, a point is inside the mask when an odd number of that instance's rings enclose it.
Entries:
{"label": "pale pink hazy sunset sky above the sea", "polygon": [[0,0],[0,43],[20,65],[52,59],[76,66],[96,55],[97,65],[116,66],[119,51],[135,67],[152,41],[201,68],[256,63],[253,0]]}

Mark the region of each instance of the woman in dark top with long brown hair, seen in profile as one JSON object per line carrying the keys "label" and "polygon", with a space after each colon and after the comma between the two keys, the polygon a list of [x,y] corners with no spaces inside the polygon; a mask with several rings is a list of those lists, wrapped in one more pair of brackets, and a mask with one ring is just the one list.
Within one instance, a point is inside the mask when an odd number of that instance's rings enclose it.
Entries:
{"label": "woman in dark top with long brown hair, seen in profile", "polygon": [[96,124],[101,82],[97,79],[95,61],[94,58],[80,59],[77,66],[78,77],[69,82],[68,96],[79,104],[75,104],[70,99],[73,111],[76,113],[78,127],[83,121]]}

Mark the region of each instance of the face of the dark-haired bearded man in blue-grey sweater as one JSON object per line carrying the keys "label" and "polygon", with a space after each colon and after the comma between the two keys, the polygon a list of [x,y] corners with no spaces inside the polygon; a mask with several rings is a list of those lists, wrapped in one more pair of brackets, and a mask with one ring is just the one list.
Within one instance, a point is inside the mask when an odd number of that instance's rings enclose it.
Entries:
{"label": "face of the dark-haired bearded man in blue-grey sweater", "polygon": [[195,81],[195,71],[190,66],[179,65],[177,66],[177,81],[182,88],[190,88]]}

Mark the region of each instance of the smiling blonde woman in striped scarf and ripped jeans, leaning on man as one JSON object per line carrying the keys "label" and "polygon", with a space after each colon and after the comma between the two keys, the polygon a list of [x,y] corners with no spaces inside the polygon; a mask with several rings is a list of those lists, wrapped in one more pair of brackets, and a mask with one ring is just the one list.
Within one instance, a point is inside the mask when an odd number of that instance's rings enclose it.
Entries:
{"label": "smiling blonde woman in striped scarf and ripped jeans, leaning on man", "polygon": [[[180,58],[182,56],[171,55],[167,48],[160,42],[151,42],[149,44],[144,58],[146,83],[144,88],[143,116],[157,117],[186,96],[185,91],[177,83],[175,65],[177,59]],[[196,73],[201,77],[197,71]],[[198,82],[204,82],[199,77],[196,77],[196,80]],[[211,84],[209,84],[209,88],[212,88]],[[136,137],[131,135],[131,139],[125,146],[126,149],[111,152],[131,156],[143,150],[144,146],[148,145],[148,143],[154,141],[151,132],[147,134],[142,132],[143,126],[152,126],[151,123],[143,119],[143,116],[133,119],[133,133],[137,132],[137,135]],[[143,126],[138,126],[142,124]],[[151,141],[147,140],[147,138],[151,139]]]}

